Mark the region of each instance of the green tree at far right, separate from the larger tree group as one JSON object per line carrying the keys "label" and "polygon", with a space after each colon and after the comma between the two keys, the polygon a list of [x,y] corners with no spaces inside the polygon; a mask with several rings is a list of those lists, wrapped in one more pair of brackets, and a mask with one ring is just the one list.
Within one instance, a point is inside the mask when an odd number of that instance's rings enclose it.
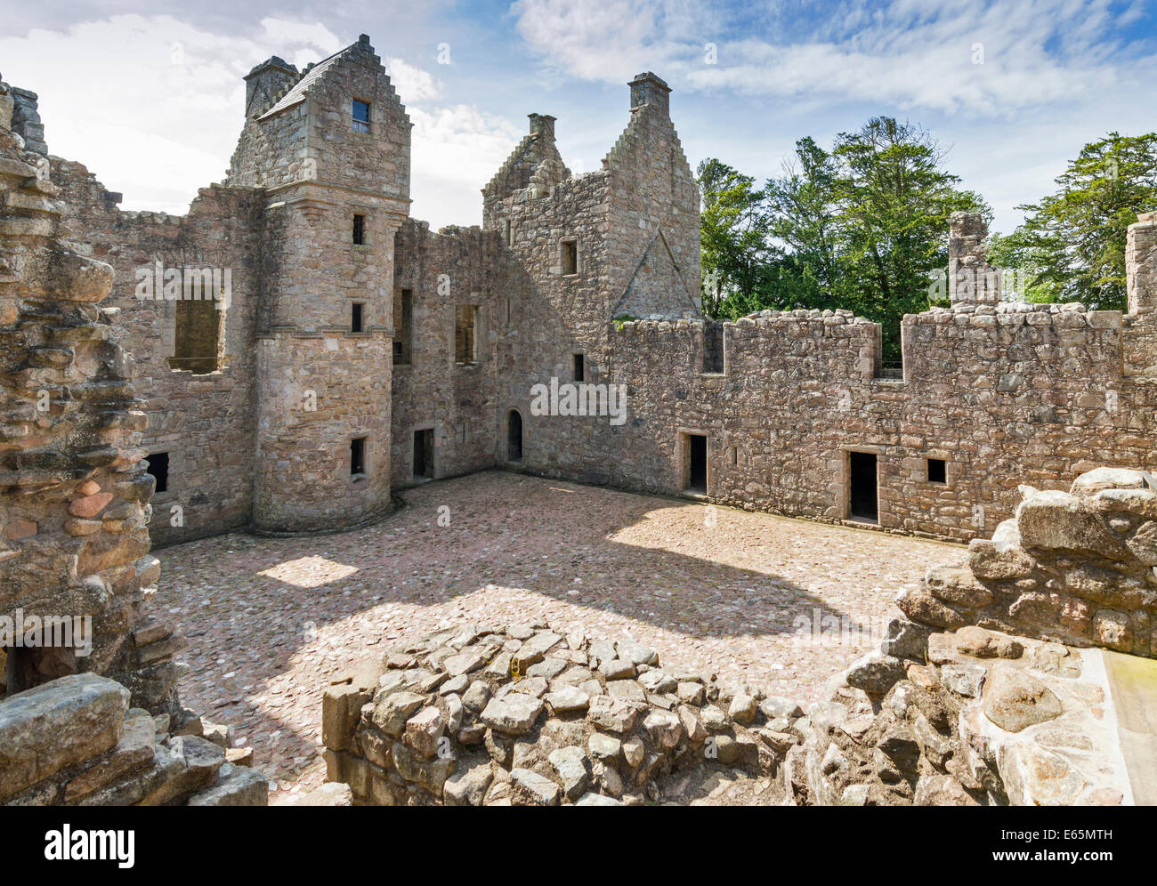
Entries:
{"label": "green tree at far right, separate from the larger tree group", "polygon": [[1111,132],[1085,145],[1008,237],[994,238],[993,264],[1024,272],[1026,297],[1126,310],[1125,239],[1137,213],[1157,207],[1157,134]]}

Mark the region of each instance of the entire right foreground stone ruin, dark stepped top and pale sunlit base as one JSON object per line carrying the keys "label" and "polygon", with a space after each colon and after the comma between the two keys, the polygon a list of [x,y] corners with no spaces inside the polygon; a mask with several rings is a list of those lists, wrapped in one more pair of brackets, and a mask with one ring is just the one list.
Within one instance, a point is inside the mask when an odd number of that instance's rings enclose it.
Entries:
{"label": "entire right foreground stone ruin, dark stepped top and pale sunlit base", "polygon": [[[966,564],[901,595],[874,652],[835,674],[782,770],[811,805],[1130,803],[1099,645],[1155,654],[1152,475],[1098,468],[1023,487]],[[1082,647],[1084,647],[1082,649]]]}

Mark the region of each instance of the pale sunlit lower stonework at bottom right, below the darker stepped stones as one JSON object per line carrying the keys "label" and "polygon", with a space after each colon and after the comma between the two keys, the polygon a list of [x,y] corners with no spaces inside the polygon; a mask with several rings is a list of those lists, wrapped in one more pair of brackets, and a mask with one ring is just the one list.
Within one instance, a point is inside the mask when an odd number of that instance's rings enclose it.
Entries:
{"label": "pale sunlit lower stonework at bottom right, below the darker stepped stones", "polygon": [[798,805],[1117,805],[1128,778],[1099,654],[974,626],[893,625],[789,748]]}

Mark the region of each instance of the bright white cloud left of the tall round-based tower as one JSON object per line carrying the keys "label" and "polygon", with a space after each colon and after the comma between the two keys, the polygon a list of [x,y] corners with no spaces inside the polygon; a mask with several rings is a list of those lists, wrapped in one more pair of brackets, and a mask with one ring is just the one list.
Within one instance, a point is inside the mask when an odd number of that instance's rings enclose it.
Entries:
{"label": "bright white cloud left of the tall round-based tower", "polygon": [[339,47],[319,24],[266,19],[245,37],[168,15],[0,37],[5,80],[39,95],[49,150],[124,192],[125,208],[170,213],[187,212],[198,187],[223,177],[243,121],[242,77],[255,64],[300,53],[316,61]]}

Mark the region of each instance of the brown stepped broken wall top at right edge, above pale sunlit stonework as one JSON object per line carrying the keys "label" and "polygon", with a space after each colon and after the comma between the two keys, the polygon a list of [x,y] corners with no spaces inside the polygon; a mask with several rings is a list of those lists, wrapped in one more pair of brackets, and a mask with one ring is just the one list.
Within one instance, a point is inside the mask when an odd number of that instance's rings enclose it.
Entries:
{"label": "brown stepped broken wall top at right edge, above pale sunlit stonework", "polygon": [[1022,486],[1016,517],[899,600],[911,619],[1157,656],[1157,480],[1099,467],[1070,492]]}

